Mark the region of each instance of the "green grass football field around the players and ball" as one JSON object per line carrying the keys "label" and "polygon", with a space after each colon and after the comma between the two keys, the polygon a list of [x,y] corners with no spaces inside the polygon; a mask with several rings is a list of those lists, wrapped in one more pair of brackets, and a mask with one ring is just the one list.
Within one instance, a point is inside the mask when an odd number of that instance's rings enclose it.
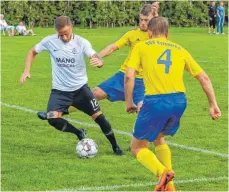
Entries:
{"label": "green grass football field around the players and ball", "polygon": [[[87,38],[99,51],[126,30],[74,29],[74,32]],[[35,111],[46,109],[51,88],[48,53],[37,56],[31,79],[25,85],[19,84],[19,78],[28,50],[54,33],[54,29],[37,28],[35,33],[35,37],[2,37],[1,190],[152,191],[156,179],[128,150],[136,116],[125,113],[123,102],[100,102],[124,149],[122,157],[113,155],[96,124],[81,112],[67,118],[75,120],[75,126],[85,127],[87,136],[97,142],[99,152],[92,159],[78,159],[75,136],[58,132],[36,117]],[[169,39],[188,49],[209,74],[222,110],[222,117],[212,121],[200,85],[185,73],[188,107],[178,133],[167,138],[177,190],[228,191],[228,37],[208,35],[206,28],[171,28]],[[101,69],[88,65],[90,87],[114,74],[127,53],[124,48],[105,58]]]}

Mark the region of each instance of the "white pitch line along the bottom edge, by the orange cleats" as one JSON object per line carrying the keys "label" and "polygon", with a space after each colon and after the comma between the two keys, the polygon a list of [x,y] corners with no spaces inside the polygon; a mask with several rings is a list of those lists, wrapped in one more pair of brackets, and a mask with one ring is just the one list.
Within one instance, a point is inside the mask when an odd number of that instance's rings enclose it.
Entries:
{"label": "white pitch line along the bottom edge, by the orange cleats", "polygon": [[[175,180],[174,183],[201,183],[201,182],[209,182],[209,181],[221,181],[221,180],[228,180],[228,177],[212,177],[212,178],[197,178],[197,179],[189,179],[189,180]],[[132,184],[123,184],[123,185],[113,185],[113,186],[94,186],[94,187],[83,187],[81,186],[78,189],[61,189],[58,191],[99,191],[99,190],[114,190],[120,188],[127,188],[127,187],[147,187],[147,186],[154,186],[157,182],[147,182],[147,183],[132,183]]]}

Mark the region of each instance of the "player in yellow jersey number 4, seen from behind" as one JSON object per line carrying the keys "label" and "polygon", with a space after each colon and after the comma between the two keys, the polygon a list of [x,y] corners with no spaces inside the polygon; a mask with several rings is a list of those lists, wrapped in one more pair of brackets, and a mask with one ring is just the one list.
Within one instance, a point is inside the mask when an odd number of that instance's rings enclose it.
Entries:
{"label": "player in yellow jersey number 4, seen from behind", "polygon": [[[179,128],[187,102],[183,83],[184,70],[201,84],[213,120],[221,116],[214,89],[207,74],[188,51],[167,40],[168,21],[155,17],[148,25],[150,40],[138,43],[129,58],[125,77],[125,99],[128,113],[136,112],[133,103],[135,73],[142,71],[145,98],[133,130],[131,151],[137,160],[158,177],[155,191],[173,191],[174,177],[171,151],[165,135],[174,135]],[[148,149],[154,142],[156,155]]]}

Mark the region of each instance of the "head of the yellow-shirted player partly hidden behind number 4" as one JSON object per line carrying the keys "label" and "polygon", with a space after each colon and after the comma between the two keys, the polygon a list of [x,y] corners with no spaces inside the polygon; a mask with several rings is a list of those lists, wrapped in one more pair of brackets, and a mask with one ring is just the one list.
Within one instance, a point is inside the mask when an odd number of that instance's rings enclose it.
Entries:
{"label": "head of the yellow-shirted player partly hidden behind number 4", "polygon": [[139,14],[139,27],[142,31],[148,30],[148,23],[153,18],[155,9],[151,4],[145,4]]}

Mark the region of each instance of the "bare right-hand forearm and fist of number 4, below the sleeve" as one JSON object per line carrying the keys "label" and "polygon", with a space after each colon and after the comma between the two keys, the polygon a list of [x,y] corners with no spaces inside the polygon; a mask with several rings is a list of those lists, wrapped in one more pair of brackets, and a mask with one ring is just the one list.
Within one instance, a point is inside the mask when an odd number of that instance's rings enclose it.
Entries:
{"label": "bare right-hand forearm and fist of number 4, below the sleeve", "polygon": [[210,115],[213,120],[218,119],[221,116],[221,111],[217,105],[214,89],[208,75],[202,71],[196,76],[196,79],[200,82],[209,102]]}

